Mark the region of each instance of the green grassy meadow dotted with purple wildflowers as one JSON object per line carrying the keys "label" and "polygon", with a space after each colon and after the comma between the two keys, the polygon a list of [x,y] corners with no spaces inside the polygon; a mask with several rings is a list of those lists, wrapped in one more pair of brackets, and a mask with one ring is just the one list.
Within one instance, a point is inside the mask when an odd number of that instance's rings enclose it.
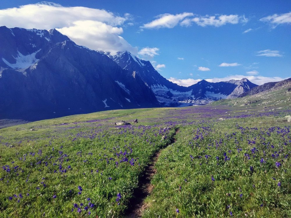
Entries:
{"label": "green grassy meadow dotted with purple wildflowers", "polygon": [[285,92],[0,129],[0,217],[121,217],[160,149],[143,217],[291,217]]}

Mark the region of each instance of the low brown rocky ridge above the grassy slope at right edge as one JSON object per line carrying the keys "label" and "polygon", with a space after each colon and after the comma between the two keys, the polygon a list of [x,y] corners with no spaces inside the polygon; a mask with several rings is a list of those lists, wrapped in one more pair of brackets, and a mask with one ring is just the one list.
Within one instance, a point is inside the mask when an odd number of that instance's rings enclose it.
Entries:
{"label": "low brown rocky ridge above the grassy slope at right edge", "polygon": [[238,97],[254,95],[254,94],[258,94],[260,92],[266,92],[266,91],[271,92],[271,91],[281,90],[289,86],[291,86],[291,78],[283,80],[283,81],[279,81],[279,82],[264,83],[263,85],[253,87],[249,91],[244,92],[243,94],[240,94]]}

